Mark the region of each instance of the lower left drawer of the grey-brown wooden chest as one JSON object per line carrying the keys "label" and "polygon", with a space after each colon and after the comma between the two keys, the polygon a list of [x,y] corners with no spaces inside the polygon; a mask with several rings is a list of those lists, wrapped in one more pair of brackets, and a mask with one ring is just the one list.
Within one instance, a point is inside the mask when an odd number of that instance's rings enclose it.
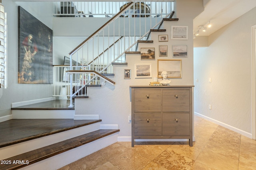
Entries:
{"label": "lower left drawer of the grey-brown wooden chest", "polygon": [[134,114],[134,136],[161,136],[161,114],[138,113]]}

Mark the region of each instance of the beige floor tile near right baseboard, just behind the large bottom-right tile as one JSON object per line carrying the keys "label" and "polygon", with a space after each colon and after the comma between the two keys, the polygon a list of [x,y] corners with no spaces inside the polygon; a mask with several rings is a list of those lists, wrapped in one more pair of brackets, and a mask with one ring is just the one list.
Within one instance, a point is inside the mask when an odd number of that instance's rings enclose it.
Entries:
{"label": "beige floor tile near right baseboard, just behind the large bottom-right tile", "polygon": [[212,134],[210,141],[215,141],[220,144],[230,145],[232,147],[240,147],[241,135],[231,131],[225,127],[218,126]]}

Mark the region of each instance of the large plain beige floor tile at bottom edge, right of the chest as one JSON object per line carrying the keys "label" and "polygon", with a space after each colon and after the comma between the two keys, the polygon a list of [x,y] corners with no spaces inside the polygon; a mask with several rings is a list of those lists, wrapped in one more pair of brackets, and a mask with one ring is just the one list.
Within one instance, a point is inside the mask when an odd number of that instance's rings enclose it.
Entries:
{"label": "large plain beige floor tile at bottom edge, right of the chest", "polygon": [[220,170],[238,169],[239,148],[209,141],[196,161]]}

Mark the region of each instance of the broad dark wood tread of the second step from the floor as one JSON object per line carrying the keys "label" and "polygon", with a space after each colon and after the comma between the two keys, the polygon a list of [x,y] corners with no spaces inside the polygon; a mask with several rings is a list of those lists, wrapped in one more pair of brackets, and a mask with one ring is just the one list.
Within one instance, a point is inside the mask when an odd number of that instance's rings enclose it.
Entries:
{"label": "broad dark wood tread of the second step from the floor", "polygon": [[[11,119],[0,123],[0,148],[101,121],[101,119]],[[35,126],[37,128],[34,128]]]}

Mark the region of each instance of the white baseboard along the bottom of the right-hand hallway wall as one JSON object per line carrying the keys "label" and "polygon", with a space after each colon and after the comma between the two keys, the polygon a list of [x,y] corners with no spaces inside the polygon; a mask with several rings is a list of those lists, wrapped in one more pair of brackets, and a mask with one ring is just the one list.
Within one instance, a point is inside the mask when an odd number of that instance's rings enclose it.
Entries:
{"label": "white baseboard along the bottom of the right-hand hallway wall", "polygon": [[246,131],[243,131],[243,130],[238,129],[238,128],[233,127],[233,126],[230,126],[230,125],[228,125],[228,124],[226,124],[226,123],[223,123],[223,122],[220,122],[220,121],[218,121],[218,120],[212,119],[212,118],[210,118],[210,117],[207,117],[207,116],[202,115],[202,114],[197,113],[197,112],[194,112],[194,115],[197,115],[197,116],[199,116],[199,117],[202,117],[202,118],[204,118],[204,119],[206,119],[206,120],[208,120],[208,121],[211,121],[212,123],[216,123],[217,125],[221,125],[221,126],[223,126],[223,127],[226,127],[227,129],[230,129],[230,130],[232,130],[232,131],[235,131],[235,132],[237,132],[237,133],[240,133],[241,135],[244,135],[244,136],[246,136],[246,137],[252,139],[252,133],[248,133],[248,132],[246,132]]}

